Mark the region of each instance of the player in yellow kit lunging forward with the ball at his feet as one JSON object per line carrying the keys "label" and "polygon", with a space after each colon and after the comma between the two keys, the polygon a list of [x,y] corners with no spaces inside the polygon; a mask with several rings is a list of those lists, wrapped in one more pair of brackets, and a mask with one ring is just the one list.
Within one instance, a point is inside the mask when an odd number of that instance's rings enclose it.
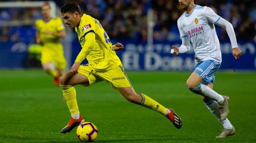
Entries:
{"label": "player in yellow kit lunging forward with the ball at his feet", "polygon": [[[181,119],[172,109],[167,109],[147,95],[134,91],[115,52],[122,47],[122,44],[117,43],[112,46],[109,36],[97,19],[86,14],[82,15],[76,3],[67,3],[62,6],[61,14],[64,23],[76,30],[82,47],[71,70],[60,77],[60,87],[71,113],[71,119],[61,133],[70,132],[84,122],[78,110],[74,85],[91,86],[101,81],[108,82],[128,101],[163,114],[176,128],[181,128]],[[85,58],[88,64],[80,65]]]}

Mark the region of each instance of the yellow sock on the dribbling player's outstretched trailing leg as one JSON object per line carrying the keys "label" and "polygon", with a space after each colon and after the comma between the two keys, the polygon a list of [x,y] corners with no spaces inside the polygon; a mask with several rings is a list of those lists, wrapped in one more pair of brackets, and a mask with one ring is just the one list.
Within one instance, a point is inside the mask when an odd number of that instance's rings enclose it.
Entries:
{"label": "yellow sock on the dribbling player's outstretched trailing leg", "polygon": [[148,109],[152,109],[154,111],[157,111],[161,114],[165,114],[166,108],[163,107],[163,105],[157,103],[157,101],[151,99],[150,97],[148,97],[147,95],[140,93],[140,95],[142,95],[142,103],[140,105],[142,105],[143,107],[146,107]]}

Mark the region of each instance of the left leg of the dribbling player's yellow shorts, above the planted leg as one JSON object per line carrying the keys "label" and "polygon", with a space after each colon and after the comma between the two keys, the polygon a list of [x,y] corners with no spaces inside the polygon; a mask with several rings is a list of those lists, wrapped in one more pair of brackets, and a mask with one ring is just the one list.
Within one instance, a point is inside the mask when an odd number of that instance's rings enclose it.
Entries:
{"label": "left leg of the dribbling player's yellow shorts, above the planted leg", "polygon": [[89,80],[89,83],[90,83],[89,85],[103,81],[101,78],[99,78],[98,76],[93,74],[94,71],[88,66],[88,64],[80,65],[78,68],[78,72],[87,77],[87,79]]}

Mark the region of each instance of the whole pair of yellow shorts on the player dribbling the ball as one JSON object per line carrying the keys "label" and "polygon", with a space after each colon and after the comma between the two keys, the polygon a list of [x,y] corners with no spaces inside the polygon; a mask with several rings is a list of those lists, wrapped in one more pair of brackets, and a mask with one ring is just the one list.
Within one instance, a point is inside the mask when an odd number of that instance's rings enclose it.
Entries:
{"label": "whole pair of yellow shorts on the player dribbling the ball", "polygon": [[119,65],[115,68],[106,71],[95,71],[87,65],[80,65],[78,72],[86,76],[90,82],[89,85],[95,84],[97,82],[106,81],[112,88],[124,88],[132,87],[130,80],[128,79],[124,68],[122,65]]}

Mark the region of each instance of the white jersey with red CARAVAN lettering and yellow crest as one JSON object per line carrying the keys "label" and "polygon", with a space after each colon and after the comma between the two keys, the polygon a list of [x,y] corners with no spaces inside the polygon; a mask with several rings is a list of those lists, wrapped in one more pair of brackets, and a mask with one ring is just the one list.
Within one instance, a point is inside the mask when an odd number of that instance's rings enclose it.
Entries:
{"label": "white jersey with red CARAVAN lettering and yellow crest", "polygon": [[184,12],[178,19],[180,38],[189,37],[195,52],[195,61],[221,62],[219,39],[215,26],[221,17],[207,6],[195,5],[189,15]]}

